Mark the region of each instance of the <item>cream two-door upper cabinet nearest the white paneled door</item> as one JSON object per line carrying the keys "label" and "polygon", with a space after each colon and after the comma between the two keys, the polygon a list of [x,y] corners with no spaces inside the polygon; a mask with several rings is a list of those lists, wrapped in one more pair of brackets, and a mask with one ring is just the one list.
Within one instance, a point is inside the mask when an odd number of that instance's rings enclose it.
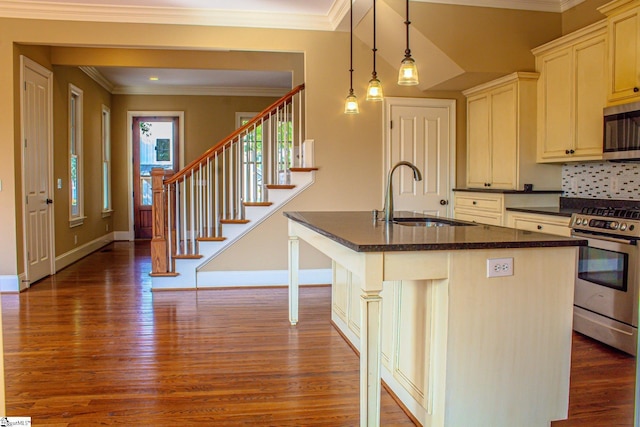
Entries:
{"label": "cream two-door upper cabinet nearest the white paneled door", "polygon": [[538,73],[517,72],[463,92],[468,188],[560,186],[560,168],[536,164],[537,79]]}

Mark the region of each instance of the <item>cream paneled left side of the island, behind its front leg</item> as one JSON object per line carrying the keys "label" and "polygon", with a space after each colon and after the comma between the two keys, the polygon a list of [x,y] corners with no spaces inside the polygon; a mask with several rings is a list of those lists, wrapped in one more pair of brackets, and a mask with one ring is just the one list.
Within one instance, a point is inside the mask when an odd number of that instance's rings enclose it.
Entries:
{"label": "cream paneled left side of the island, behind its front leg", "polygon": [[[332,321],[358,350],[360,279],[334,261]],[[418,419],[431,411],[429,375],[433,285],[428,281],[384,282],[382,296],[382,379]]]}

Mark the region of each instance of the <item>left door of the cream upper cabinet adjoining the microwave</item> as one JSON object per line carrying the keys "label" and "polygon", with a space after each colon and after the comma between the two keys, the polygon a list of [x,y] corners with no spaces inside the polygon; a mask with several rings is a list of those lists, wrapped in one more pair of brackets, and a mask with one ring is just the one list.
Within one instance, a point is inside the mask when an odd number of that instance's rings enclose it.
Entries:
{"label": "left door of the cream upper cabinet adjoining the microwave", "polygon": [[[564,159],[572,135],[572,54],[562,49],[539,58],[538,161]],[[602,116],[602,111],[600,111]]]}

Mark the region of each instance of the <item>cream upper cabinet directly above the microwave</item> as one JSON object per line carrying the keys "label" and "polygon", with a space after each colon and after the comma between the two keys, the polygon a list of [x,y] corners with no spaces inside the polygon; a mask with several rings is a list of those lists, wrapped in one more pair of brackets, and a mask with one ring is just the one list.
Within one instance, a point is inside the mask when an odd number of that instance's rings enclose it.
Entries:
{"label": "cream upper cabinet directly above the microwave", "polygon": [[608,105],[640,101],[640,1],[616,0],[598,10],[609,24]]}

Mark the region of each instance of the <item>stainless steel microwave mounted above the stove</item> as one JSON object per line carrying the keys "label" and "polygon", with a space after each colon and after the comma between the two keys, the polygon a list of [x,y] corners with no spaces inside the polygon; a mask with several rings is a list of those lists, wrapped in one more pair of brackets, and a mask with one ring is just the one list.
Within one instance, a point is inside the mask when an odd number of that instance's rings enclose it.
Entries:
{"label": "stainless steel microwave mounted above the stove", "polygon": [[605,160],[640,160],[640,102],[604,109]]}

